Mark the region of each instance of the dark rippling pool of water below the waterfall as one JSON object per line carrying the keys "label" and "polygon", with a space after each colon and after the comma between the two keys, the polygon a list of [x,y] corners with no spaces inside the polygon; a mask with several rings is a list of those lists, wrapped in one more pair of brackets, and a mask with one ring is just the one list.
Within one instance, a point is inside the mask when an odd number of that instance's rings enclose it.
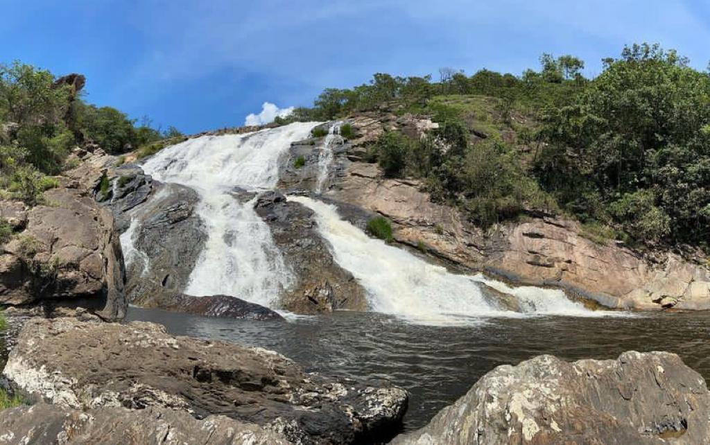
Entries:
{"label": "dark rippling pool of water below the waterfall", "polygon": [[710,312],[485,319],[466,326],[422,326],[359,312],[255,322],[131,308],[127,319],[157,322],[173,334],[273,349],[324,375],[391,380],[411,394],[405,429],[422,427],[496,366],[540,354],[577,360],[670,351],[710,378]]}

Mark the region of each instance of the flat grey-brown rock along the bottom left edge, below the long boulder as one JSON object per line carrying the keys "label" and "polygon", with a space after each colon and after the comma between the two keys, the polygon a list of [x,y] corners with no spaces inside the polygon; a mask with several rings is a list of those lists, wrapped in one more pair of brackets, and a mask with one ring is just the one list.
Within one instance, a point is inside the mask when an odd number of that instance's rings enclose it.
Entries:
{"label": "flat grey-brown rock along the bottom left edge, below the long boulder", "polygon": [[16,445],[289,445],[283,436],[229,417],[198,420],[185,412],[148,407],[71,410],[40,403],[0,412],[0,444]]}

